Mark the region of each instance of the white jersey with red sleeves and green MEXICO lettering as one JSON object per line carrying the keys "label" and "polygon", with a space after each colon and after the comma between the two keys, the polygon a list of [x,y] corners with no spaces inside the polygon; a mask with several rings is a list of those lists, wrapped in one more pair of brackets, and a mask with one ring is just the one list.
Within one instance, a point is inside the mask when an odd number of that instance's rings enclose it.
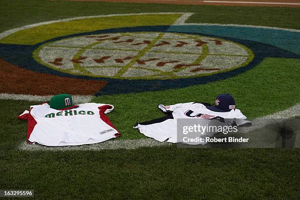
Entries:
{"label": "white jersey with red sleeves and green MEXICO lettering", "polygon": [[113,105],[86,103],[71,110],[55,110],[45,103],[31,106],[18,118],[28,120],[27,142],[47,146],[100,143],[120,136],[105,115]]}

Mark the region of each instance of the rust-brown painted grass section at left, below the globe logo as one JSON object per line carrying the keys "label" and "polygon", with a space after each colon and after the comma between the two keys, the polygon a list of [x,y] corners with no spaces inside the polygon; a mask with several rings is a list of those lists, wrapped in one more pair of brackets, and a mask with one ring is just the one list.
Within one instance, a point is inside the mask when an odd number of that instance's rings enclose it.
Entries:
{"label": "rust-brown painted grass section at left, below the globe logo", "polygon": [[105,81],[59,77],[20,68],[0,59],[0,93],[54,95],[94,95]]}

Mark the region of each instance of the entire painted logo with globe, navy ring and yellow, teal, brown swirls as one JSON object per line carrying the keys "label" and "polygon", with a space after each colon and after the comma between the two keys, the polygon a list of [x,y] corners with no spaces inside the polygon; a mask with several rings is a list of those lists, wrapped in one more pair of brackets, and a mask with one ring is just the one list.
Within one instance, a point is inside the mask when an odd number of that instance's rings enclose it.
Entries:
{"label": "entire painted logo with globe, navy ring and yellow, teal, brown swirls", "polygon": [[2,93],[163,90],[225,80],[266,57],[300,58],[297,30],[184,23],[190,15],[91,16],[8,30],[0,34],[0,58],[11,77]]}

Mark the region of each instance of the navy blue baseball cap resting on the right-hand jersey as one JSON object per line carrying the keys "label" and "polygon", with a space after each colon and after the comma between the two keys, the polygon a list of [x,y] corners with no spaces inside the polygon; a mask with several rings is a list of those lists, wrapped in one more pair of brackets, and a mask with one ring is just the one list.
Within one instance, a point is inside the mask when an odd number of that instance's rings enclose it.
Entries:
{"label": "navy blue baseball cap resting on the right-hand jersey", "polygon": [[219,94],[216,97],[215,105],[206,108],[215,112],[229,112],[235,109],[235,101],[230,94]]}

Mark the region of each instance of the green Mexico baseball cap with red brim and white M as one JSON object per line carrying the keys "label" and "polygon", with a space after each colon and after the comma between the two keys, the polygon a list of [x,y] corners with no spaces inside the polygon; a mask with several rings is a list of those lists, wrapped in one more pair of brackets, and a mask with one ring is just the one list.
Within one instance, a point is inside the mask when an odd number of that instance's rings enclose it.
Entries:
{"label": "green Mexico baseball cap with red brim and white M", "polygon": [[50,108],[55,110],[69,110],[79,106],[73,105],[72,96],[70,94],[57,94],[50,100]]}

